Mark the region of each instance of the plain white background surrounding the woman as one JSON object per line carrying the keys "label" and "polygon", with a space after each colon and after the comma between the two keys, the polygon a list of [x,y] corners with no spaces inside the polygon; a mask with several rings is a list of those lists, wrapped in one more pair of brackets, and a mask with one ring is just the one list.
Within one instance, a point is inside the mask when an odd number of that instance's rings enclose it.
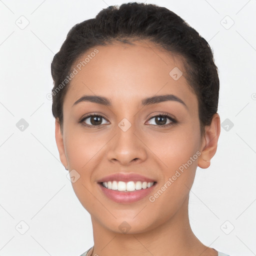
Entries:
{"label": "plain white background surrounding the woman", "polygon": [[[210,167],[197,168],[189,202],[192,230],[205,245],[231,256],[255,255],[256,1],[146,2],[172,10],[209,42],[219,68],[218,113],[221,122],[234,124],[228,131],[221,127]],[[121,3],[0,1],[1,256],[79,256],[93,245],[90,215],[59,161],[46,95],[52,57],[68,30]],[[21,15],[29,21],[24,29],[16,25]],[[229,29],[227,15],[234,21]],[[28,123],[23,131],[16,127],[21,118]]]}

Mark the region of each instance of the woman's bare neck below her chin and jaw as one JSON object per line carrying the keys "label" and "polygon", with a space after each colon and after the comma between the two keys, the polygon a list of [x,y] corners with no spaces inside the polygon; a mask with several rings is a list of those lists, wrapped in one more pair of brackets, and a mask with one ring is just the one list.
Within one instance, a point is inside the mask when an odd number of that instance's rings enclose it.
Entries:
{"label": "woman's bare neck below her chin and jaw", "polygon": [[93,253],[91,255],[216,256],[193,234],[188,219],[188,196],[180,209],[163,224],[146,232],[120,234],[106,229],[93,217]]}

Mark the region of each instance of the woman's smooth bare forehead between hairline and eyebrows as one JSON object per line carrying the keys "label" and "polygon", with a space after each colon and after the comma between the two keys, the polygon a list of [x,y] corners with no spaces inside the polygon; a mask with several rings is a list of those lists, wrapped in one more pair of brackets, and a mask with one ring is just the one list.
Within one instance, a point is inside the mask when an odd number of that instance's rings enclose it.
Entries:
{"label": "woman's smooth bare forehead between hairline and eyebrows", "polygon": [[73,68],[77,73],[69,82],[64,104],[73,104],[83,94],[102,95],[114,104],[138,103],[146,96],[170,93],[189,100],[194,107],[197,104],[181,73],[181,58],[149,41],[95,46],[82,54]]}

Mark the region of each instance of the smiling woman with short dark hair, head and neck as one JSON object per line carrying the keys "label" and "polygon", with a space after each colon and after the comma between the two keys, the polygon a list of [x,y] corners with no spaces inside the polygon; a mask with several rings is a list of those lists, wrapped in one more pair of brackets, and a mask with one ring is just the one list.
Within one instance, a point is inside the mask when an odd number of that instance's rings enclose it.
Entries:
{"label": "smiling woman with short dark hair, head and neck", "polygon": [[226,255],[188,219],[196,167],[220,133],[205,39],[164,7],[109,6],[70,29],[51,74],[60,160],[91,215],[82,256]]}

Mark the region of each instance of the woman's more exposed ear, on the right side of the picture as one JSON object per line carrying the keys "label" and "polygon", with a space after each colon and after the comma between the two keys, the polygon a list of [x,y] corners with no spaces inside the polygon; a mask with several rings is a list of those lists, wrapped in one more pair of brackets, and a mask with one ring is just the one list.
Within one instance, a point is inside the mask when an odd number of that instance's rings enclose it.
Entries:
{"label": "woman's more exposed ear, on the right side of the picture", "polygon": [[202,138],[200,156],[197,164],[200,168],[208,168],[210,166],[210,159],[217,150],[217,142],[220,133],[220,118],[217,113],[212,117],[210,125],[205,126],[205,135]]}

